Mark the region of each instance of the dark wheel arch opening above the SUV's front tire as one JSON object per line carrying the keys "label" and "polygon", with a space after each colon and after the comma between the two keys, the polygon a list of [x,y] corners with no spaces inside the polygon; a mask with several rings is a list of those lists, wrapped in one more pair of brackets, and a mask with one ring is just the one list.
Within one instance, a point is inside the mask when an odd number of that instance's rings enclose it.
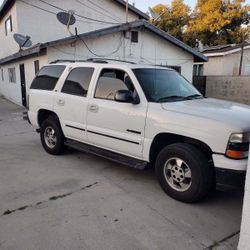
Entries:
{"label": "dark wheel arch opening above the SUV's front tire", "polygon": [[174,144],[174,143],[187,143],[191,144],[198,149],[200,149],[208,158],[208,160],[212,160],[212,149],[204,142],[186,137],[183,135],[177,135],[173,133],[159,133],[157,134],[150,146],[149,160],[152,164],[154,164],[157,155],[159,152],[166,146]]}

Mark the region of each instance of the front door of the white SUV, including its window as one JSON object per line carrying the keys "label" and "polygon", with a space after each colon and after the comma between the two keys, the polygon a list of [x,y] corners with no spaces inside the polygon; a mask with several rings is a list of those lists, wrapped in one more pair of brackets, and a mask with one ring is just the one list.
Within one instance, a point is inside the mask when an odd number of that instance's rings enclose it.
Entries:
{"label": "front door of the white SUV, including its window", "polygon": [[102,69],[88,106],[88,141],[104,149],[141,158],[147,103],[116,102],[114,97],[118,90],[137,92],[125,71]]}

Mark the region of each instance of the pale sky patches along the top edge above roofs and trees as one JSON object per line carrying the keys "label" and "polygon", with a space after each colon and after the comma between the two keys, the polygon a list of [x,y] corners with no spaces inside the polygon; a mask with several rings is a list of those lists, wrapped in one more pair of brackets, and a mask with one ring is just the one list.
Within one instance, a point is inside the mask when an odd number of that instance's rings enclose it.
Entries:
{"label": "pale sky patches along the top edge above roofs and trees", "polygon": [[[0,5],[2,4],[3,0],[0,0]],[[171,0],[129,0],[130,3],[135,3],[135,6],[146,12],[148,11],[148,7],[153,7],[158,3],[162,4],[169,4]],[[194,7],[197,0],[185,0],[185,3],[188,4],[190,7]],[[250,4],[250,0],[246,1],[247,4]]]}

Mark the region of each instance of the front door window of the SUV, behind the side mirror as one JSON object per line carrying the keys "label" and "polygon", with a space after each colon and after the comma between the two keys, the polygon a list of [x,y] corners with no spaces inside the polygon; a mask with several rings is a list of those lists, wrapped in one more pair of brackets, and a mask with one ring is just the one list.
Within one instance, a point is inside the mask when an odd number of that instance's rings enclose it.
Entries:
{"label": "front door window of the SUV, behind the side mirror", "polygon": [[102,70],[95,91],[95,98],[114,100],[118,90],[134,91],[134,85],[128,74],[122,70]]}

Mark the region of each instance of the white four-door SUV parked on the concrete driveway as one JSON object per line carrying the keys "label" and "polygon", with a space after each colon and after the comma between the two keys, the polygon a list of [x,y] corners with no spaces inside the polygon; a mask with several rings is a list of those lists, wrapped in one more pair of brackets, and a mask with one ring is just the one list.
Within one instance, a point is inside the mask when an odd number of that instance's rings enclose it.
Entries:
{"label": "white four-door SUV parked on the concrete driveway", "polygon": [[43,67],[29,92],[44,149],[65,145],[144,169],[171,197],[194,202],[247,169],[250,108],[203,97],[174,70],[108,60]]}

